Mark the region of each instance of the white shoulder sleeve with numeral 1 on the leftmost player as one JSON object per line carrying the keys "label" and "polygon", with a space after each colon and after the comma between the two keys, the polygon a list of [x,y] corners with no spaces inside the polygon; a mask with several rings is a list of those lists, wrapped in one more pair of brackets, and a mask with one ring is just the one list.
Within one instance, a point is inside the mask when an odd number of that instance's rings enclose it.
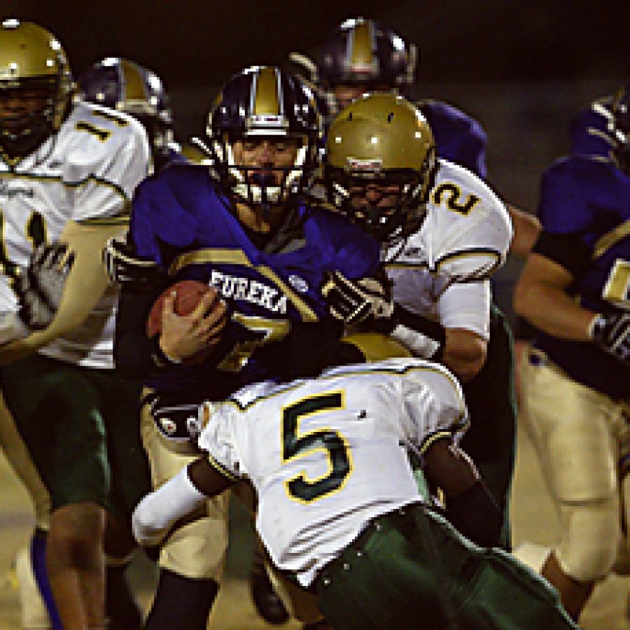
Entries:
{"label": "white shoulder sleeve with numeral 1 on the leftmost player", "polygon": [[111,218],[128,211],[134,189],[146,177],[149,148],[144,128],[128,116],[99,115],[79,105],[69,120],[64,183],[71,219]]}

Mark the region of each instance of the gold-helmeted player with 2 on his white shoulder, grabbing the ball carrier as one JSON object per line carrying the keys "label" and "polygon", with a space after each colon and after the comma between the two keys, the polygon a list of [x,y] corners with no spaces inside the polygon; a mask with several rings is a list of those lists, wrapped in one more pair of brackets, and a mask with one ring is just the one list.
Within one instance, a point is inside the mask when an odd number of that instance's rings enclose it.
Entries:
{"label": "gold-helmeted player with 2 on his white shoulder, grabbing the ball carrier", "polygon": [[391,92],[339,113],[326,152],[330,202],[382,243],[397,307],[388,332],[463,382],[472,421],[465,444],[505,513],[509,547],[512,338],[489,283],[512,238],[505,206],[472,172],[438,158],[421,112]]}

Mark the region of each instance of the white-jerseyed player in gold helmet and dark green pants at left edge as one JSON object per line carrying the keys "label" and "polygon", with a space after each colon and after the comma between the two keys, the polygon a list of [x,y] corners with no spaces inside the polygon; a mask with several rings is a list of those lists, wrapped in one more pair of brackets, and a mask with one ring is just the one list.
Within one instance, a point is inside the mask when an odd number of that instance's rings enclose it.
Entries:
{"label": "white-jerseyed player in gold helmet and dark green pants at left edge", "polygon": [[[104,626],[104,532],[117,533],[109,539],[116,541],[113,556],[133,548],[125,517],[148,484],[132,419],[139,384],[113,373],[116,290],[99,255],[106,239],[125,229],[127,204],[147,167],[141,125],[73,104],[57,39],[31,22],[4,20],[1,311],[18,311],[14,288],[25,281],[21,269],[34,247],[59,240],[74,257],[58,304],[48,303],[44,318],[31,309],[28,325],[22,321],[0,347],[7,407],[50,494],[47,567],[66,630]],[[43,295],[40,304],[50,290],[42,270],[61,267],[66,254],[52,248],[52,258],[29,267],[26,280],[31,293]]]}

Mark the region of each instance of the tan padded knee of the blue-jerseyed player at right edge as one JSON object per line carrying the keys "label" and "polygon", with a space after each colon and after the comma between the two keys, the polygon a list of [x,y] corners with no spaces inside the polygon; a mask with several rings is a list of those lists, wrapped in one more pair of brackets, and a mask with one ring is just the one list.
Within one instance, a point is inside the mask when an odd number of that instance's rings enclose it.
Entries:
{"label": "tan padded knee of the blue-jerseyed player at right edge", "polygon": [[622,538],[619,508],[612,498],[587,505],[564,505],[556,556],[578,582],[603,580],[610,573]]}

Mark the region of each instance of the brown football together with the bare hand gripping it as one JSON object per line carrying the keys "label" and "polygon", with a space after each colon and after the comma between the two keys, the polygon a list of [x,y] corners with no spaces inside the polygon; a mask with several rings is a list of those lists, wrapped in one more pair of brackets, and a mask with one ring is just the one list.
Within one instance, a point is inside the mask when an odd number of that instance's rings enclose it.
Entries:
{"label": "brown football together with the bare hand gripping it", "polygon": [[201,363],[221,339],[228,309],[216,288],[195,280],[169,286],[155,300],[146,322],[149,337],[162,335],[167,356],[181,363]]}

